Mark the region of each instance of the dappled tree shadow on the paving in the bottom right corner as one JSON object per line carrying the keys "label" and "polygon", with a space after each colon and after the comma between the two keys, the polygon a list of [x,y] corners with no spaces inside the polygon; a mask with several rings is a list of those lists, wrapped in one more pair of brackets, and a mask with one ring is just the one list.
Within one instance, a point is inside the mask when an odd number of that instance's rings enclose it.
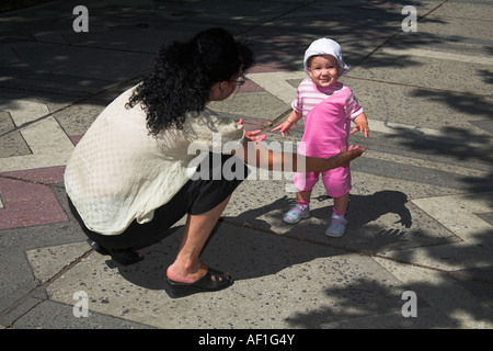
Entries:
{"label": "dappled tree shadow on the paving in the bottom right corner", "polygon": [[[492,272],[492,268],[489,268]],[[371,279],[356,279],[344,287],[328,287],[324,290],[326,304],[318,310],[296,313],[287,321],[294,328],[484,328],[493,322],[493,314],[488,308],[477,305],[474,301],[447,302],[449,291],[452,291],[454,280],[437,282],[415,282],[401,288],[389,287],[385,283]],[[483,301],[492,301],[490,283],[474,282],[466,279],[463,285],[473,294],[482,294]],[[416,293],[413,308],[416,315],[404,317],[402,310],[408,302],[404,291]],[[434,293],[429,293],[434,291]],[[489,293],[485,293],[488,292]],[[420,297],[420,292],[433,295],[428,301]],[[489,294],[489,296],[486,296]],[[492,307],[492,305],[490,305]],[[465,322],[461,315],[467,315],[470,322]]]}

